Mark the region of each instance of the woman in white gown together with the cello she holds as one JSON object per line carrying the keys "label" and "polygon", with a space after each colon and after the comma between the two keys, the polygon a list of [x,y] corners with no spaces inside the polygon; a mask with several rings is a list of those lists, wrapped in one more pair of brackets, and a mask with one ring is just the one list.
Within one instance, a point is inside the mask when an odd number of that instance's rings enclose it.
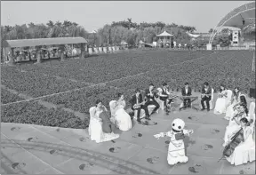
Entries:
{"label": "woman in white gown together with the cello she holds", "polygon": [[[252,121],[243,117],[239,121],[240,130],[234,133],[234,137],[230,137],[227,152],[230,151],[231,154],[226,155],[229,163],[237,166],[255,161],[255,141],[252,139],[253,129],[251,123]],[[242,135],[243,139],[239,139],[239,135]]]}

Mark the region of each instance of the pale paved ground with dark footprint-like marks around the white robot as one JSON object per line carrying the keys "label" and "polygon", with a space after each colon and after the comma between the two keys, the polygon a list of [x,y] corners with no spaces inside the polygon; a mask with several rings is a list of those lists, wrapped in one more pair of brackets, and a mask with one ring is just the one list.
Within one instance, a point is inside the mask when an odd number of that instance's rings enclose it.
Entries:
{"label": "pale paved ground with dark footprint-like marks around the white robot", "polygon": [[[195,132],[186,138],[188,163],[167,164],[168,139],[154,134],[172,128],[176,117]],[[232,166],[221,156],[228,121],[211,112],[174,111],[152,116],[147,125],[133,123],[119,139],[96,144],[86,130],[1,123],[1,173],[28,174],[253,174],[255,162]]]}

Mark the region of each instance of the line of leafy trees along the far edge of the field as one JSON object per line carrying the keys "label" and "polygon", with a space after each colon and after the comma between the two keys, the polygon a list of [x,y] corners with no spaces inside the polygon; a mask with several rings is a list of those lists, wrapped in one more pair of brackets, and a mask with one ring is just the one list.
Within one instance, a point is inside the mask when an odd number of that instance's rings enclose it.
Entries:
{"label": "line of leafy trees along the far edge of the field", "polygon": [[[136,23],[132,22],[132,19],[113,21],[111,24],[106,24],[99,28],[95,34],[89,33],[76,22],[68,20],[63,22],[49,20],[46,25],[31,22],[28,25],[1,26],[1,42],[3,45],[4,40],[81,36],[87,39],[90,45],[118,45],[124,40],[127,44],[134,46],[140,40],[150,44],[156,42],[156,35],[164,32],[164,30],[173,35],[173,41],[177,44],[193,44],[197,47],[202,47],[208,42],[208,40],[204,41],[204,39],[191,42],[191,38],[186,32],[195,32],[195,27],[177,25],[175,23],[165,24],[161,21]],[[228,40],[230,40],[230,36],[224,35],[214,41],[216,44],[228,44]]]}

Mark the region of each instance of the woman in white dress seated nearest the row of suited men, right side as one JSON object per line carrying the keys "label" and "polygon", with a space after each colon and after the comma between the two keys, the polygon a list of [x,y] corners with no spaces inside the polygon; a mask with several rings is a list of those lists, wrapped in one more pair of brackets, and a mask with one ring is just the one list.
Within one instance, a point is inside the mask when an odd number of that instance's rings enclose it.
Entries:
{"label": "woman in white dress seated nearest the row of suited men, right side", "polygon": [[214,108],[214,112],[213,112],[215,115],[221,115],[223,113],[226,113],[227,97],[228,97],[228,92],[227,92],[226,87],[223,84],[220,84],[219,97],[216,100],[216,104],[215,104],[215,108]]}

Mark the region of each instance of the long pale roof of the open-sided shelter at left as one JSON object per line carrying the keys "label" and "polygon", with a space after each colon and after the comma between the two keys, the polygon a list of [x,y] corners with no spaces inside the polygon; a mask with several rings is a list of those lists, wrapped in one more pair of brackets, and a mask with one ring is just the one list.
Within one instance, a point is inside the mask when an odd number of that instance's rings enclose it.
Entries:
{"label": "long pale roof of the open-sided shelter at left", "polygon": [[87,44],[83,37],[53,37],[36,39],[5,40],[4,47],[33,47],[39,45]]}

